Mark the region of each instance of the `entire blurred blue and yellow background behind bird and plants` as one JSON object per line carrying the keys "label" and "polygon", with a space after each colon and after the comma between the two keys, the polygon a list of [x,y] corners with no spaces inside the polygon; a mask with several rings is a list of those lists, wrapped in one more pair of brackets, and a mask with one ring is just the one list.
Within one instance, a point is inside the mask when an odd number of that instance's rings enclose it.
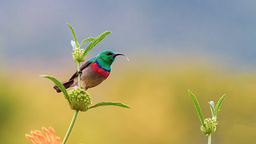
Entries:
{"label": "entire blurred blue and yellow background behind bird and plants", "polygon": [[87,60],[111,49],[130,61],[88,92],[132,107],[79,113],[69,143],[207,143],[188,90],[205,118],[227,94],[212,143],[256,143],[255,15],[255,1],[0,1],[1,143],[31,143],[42,126],[65,137],[74,111],[38,75],[76,70],[66,23],[79,43],[113,31]]}

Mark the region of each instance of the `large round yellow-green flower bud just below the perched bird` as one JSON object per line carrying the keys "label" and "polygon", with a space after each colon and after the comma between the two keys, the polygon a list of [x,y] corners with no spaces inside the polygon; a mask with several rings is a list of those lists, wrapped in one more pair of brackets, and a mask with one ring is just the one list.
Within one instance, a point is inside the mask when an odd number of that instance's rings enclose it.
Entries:
{"label": "large round yellow-green flower bud just below the perched bird", "polygon": [[89,105],[92,104],[91,95],[84,89],[78,88],[68,92],[68,105],[70,109],[78,109],[80,111],[87,111]]}

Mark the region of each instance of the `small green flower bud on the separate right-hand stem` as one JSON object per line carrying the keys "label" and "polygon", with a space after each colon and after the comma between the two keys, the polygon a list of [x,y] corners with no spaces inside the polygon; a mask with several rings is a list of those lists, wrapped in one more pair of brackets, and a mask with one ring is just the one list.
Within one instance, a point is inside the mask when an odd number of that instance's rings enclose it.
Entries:
{"label": "small green flower bud on the separate right-hand stem", "polygon": [[205,126],[201,126],[201,131],[208,135],[210,133],[214,133],[216,131],[216,126],[219,124],[216,119],[206,118],[204,119]]}

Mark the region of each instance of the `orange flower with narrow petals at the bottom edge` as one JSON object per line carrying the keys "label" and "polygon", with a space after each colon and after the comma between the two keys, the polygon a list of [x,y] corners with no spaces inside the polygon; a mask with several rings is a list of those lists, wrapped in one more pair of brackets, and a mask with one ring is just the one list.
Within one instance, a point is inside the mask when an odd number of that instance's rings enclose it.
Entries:
{"label": "orange flower with narrow petals at the bottom edge", "polygon": [[31,135],[26,134],[27,139],[31,140],[34,144],[61,144],[60,137],[56,137],[55,131],[51,126],[49,130],[45,127],[42,127],[42,130],[44,133],[38,130],[31,131]]}

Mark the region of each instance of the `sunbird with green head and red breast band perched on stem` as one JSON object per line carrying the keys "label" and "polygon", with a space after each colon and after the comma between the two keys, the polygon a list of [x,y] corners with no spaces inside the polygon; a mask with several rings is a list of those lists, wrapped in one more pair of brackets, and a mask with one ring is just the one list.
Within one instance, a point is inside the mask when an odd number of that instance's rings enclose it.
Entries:
{"label": "sunbird with green head and red breast band perched on stem", "polygon": [[[68,81],[62,82],[65,89],[69,87],[78,88],[78,74],[81,74],[81,87],[84,90],[95,87],[108,78],[111,71],[111,64],[115,61],[117,55],[123,53],[115,53],[111,50],[100,52],[96,57],[83,63],[80,71],[77,71],[71,76]],[[126,55],[124,55],[126,57]],[[127,57],[126,57],[127,58]],[[127,60],[129,60],[127,58]],[[53,89],[60,93],[61,90],[57,85],[53,85]]]}

